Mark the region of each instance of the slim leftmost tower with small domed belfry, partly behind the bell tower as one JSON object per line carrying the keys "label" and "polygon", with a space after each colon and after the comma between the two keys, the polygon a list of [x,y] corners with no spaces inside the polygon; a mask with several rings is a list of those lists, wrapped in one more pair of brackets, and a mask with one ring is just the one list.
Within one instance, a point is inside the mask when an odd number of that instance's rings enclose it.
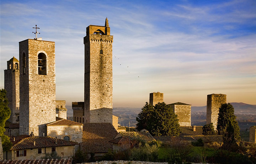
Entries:
{"label": "slim leftmost tower with small domed belfry, partly behind the bell tower", "polygon": [[7,70],[4,70],[4,88],[7,91],[8,107],[11,110],[11,116],[8,121],[11,123],[19,123],[20,70],[19,61],[15,57],[7,61]]}

